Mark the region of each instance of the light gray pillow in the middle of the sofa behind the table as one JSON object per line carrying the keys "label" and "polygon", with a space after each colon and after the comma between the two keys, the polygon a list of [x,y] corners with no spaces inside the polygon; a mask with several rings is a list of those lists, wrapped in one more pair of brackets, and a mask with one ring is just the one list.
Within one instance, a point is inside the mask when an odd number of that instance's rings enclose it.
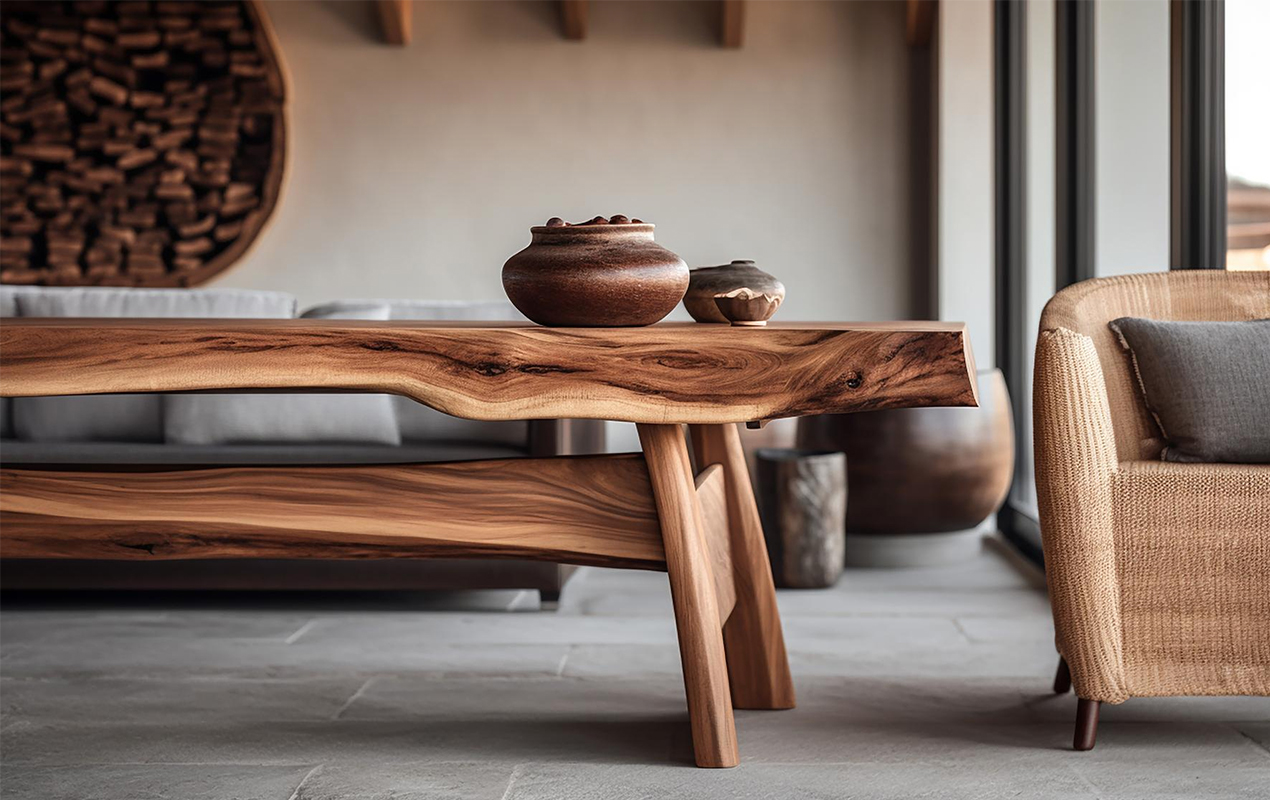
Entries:
{"label": "light gray pillow in the middle of the sofa behind the table", "polygon": [[[310,319],[386,320],[387,305],[331,309]],[[389,395],[169,395],[164,438],[174,444],[367,443],[400,444]]]}

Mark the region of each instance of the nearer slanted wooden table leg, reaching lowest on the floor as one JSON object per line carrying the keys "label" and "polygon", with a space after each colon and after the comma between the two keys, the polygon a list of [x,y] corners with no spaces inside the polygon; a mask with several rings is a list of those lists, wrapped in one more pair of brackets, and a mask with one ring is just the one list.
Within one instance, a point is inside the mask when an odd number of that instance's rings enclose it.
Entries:
{"label": "nearer slanted wooden table leg, reaching lowest on the floor", "polygon": [[740,757],[714,573],[683,429],[641,424],[639,438],[662,523],[697,766],[735,767]]}

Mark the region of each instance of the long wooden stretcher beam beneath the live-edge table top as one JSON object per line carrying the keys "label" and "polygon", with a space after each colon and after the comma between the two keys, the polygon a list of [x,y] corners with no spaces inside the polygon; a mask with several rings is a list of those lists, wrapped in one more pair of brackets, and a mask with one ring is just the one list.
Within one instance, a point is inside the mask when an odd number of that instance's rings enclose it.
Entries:
{"label": "long wooden stretcher beam beneath the live-edge table top", "polygon": [[4,556],[503,556],[664,569],[639,456],[0,470]]}

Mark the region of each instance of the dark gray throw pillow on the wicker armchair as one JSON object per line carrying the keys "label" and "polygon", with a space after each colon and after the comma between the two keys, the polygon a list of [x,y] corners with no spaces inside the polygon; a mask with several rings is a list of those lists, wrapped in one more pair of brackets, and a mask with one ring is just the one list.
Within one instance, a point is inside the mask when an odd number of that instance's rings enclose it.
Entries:
{"label": "dark gray throw pillow on the wicker armchair", "polygon": [[1165,461],[1270,462],[1270,320],[1110,323],[1129,352]]}

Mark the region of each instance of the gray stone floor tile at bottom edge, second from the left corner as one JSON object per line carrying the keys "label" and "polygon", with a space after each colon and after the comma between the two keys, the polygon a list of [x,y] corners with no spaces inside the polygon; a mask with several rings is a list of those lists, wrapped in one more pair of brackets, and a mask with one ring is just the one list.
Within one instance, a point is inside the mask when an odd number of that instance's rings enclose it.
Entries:
{"label": "gray stone floor tile at bottom edge, second from the left corner", "polygon": [[324,764],[305,778],[295,800],[502,800],[513,770],[476,762]]}

